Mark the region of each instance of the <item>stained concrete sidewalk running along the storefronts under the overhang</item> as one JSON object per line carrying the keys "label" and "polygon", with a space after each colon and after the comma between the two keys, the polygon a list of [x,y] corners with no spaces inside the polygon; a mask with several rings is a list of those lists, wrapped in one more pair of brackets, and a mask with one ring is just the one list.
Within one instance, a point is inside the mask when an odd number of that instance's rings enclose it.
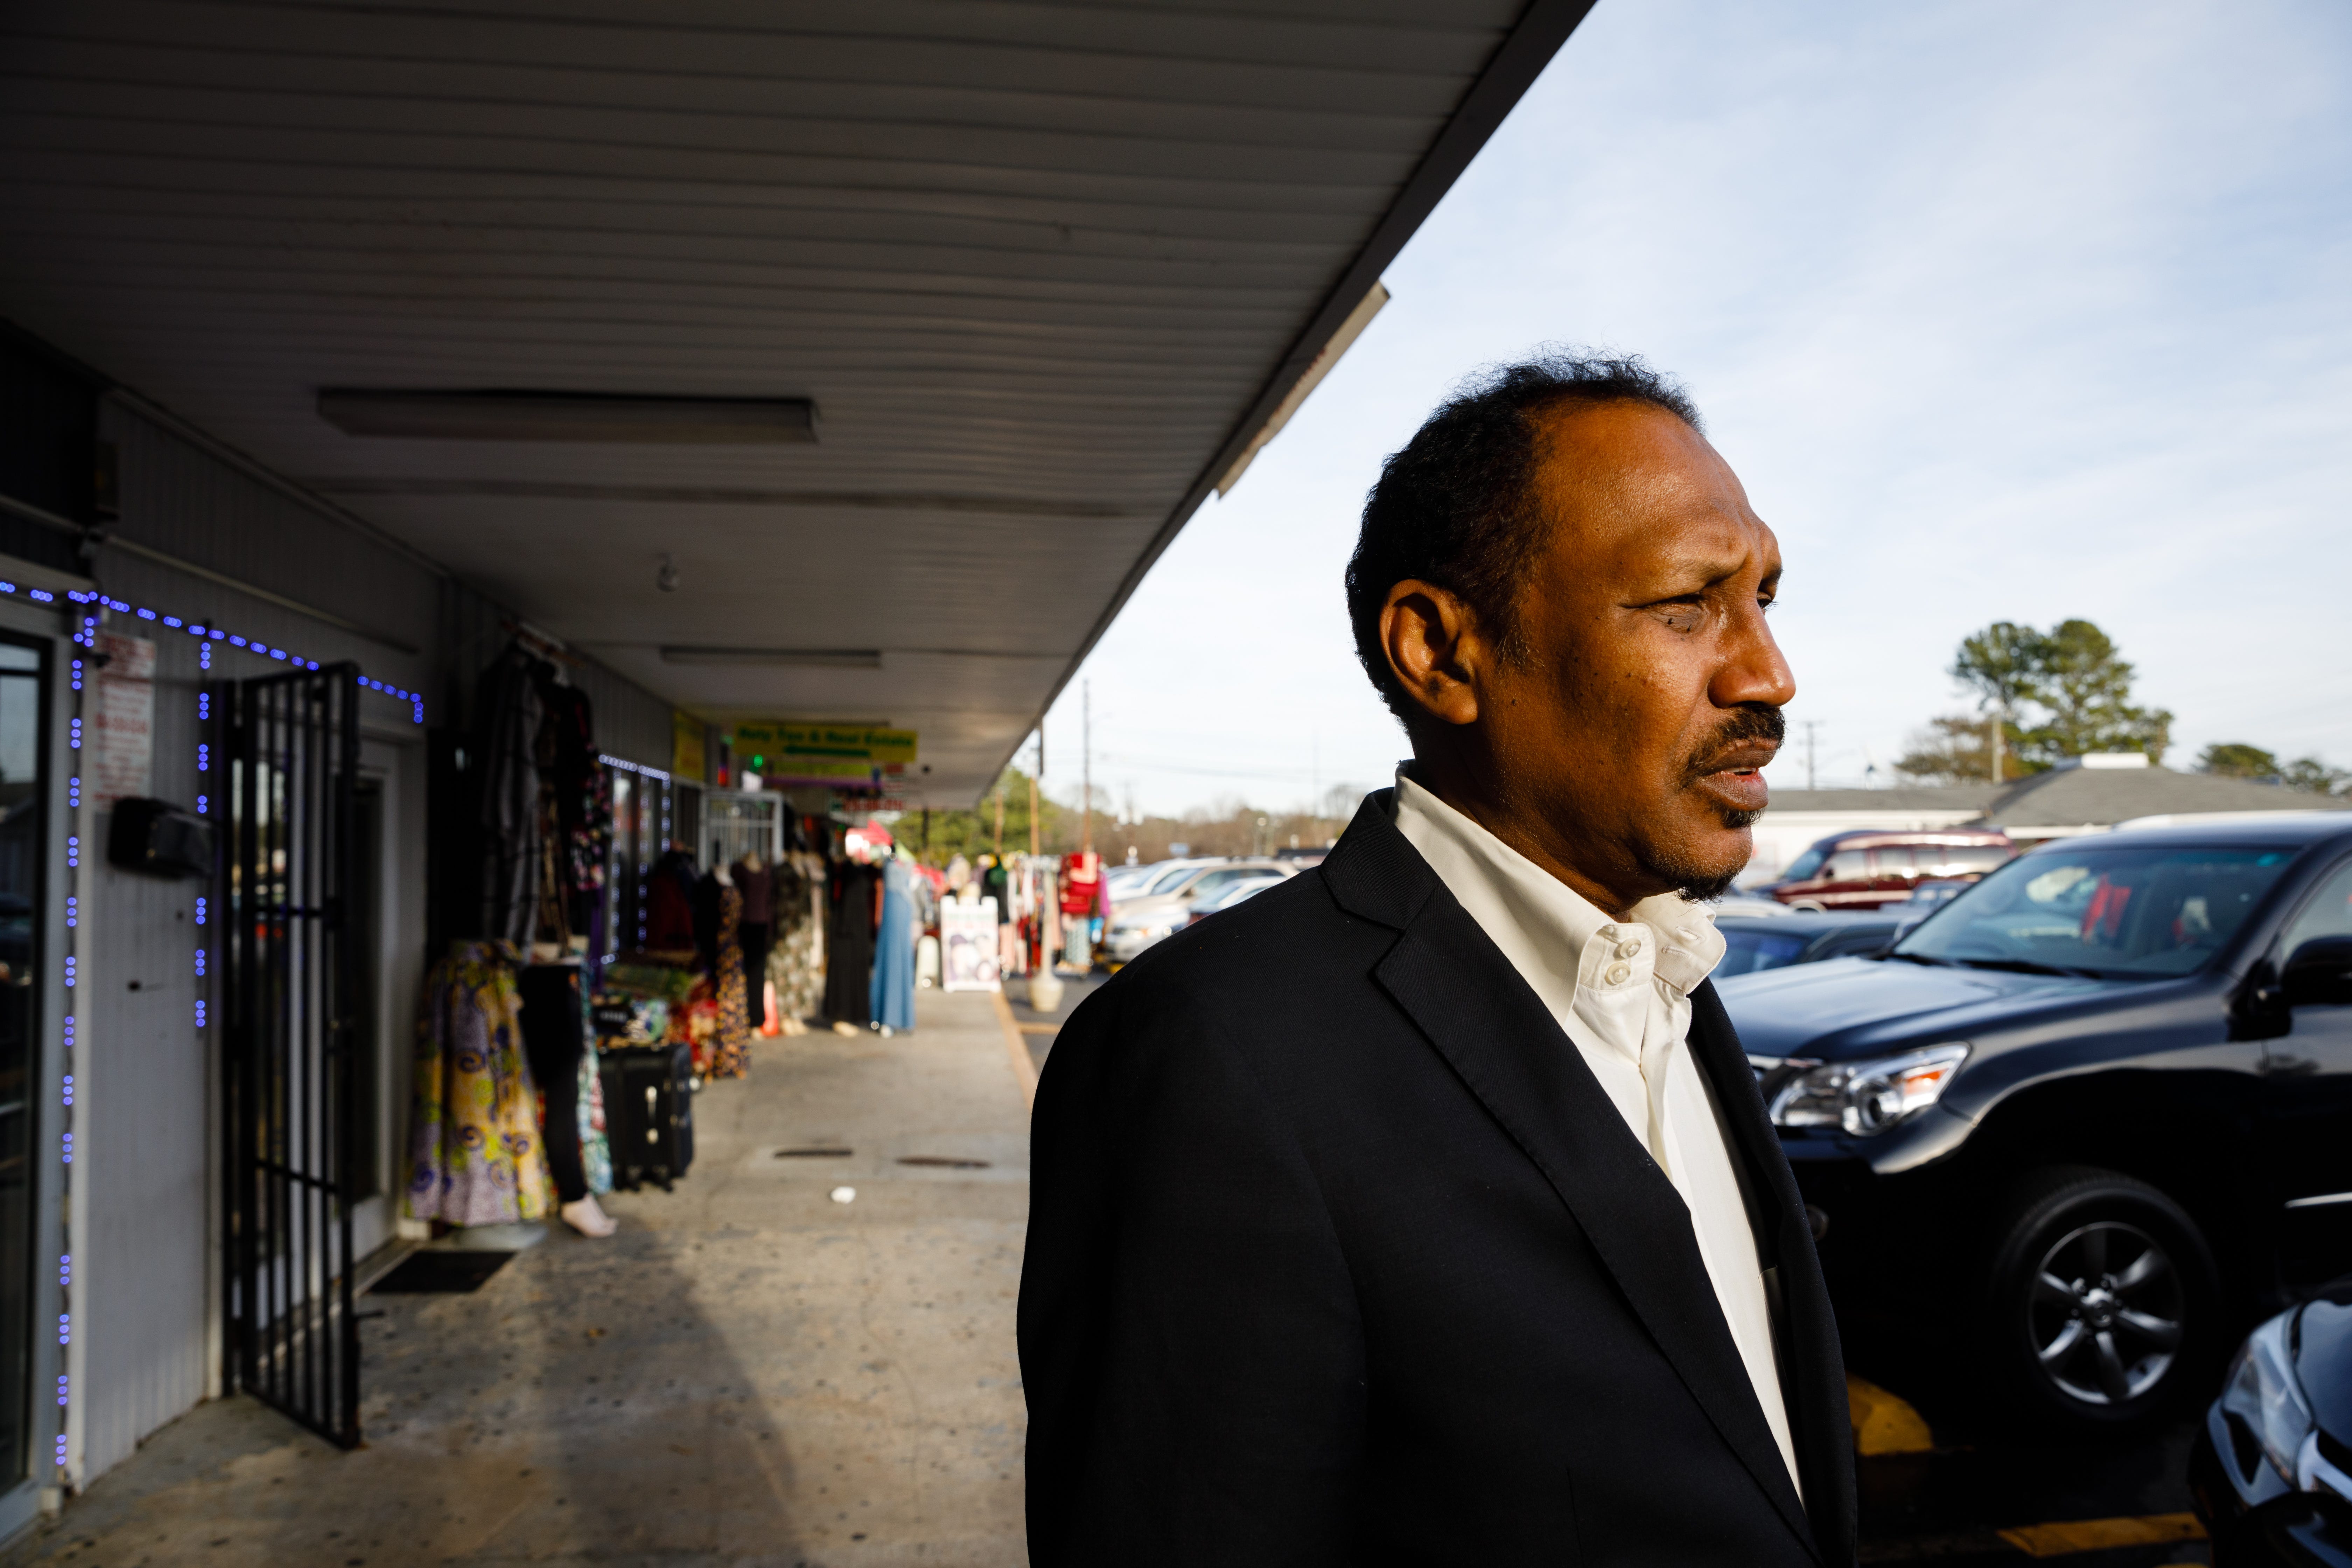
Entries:
{"label": "stained concrete sidewalk running along the storefronts under the overhang", "polygon": [[[757,1041],[694,1117],[691,1175],[616,1194],[619,1237],[369,1295],[358,1453],[216,1401],[0,1563],[1023,1563],[1028,1110],[995,1001]],[[811,1147],[854,1152],[779,1157]]]}

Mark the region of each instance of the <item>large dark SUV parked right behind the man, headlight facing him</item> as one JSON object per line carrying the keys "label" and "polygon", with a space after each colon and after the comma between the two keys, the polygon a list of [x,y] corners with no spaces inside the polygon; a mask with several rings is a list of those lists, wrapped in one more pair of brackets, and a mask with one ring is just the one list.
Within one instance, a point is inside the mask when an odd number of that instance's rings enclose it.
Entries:
{"label": "large dark SUV parked right behind the man, headlight facing him", "polygon": [[1724,987],[1849,1340],[2152,1415],[2352,1267],[2352,823],[2044,844],[1884,959]]}

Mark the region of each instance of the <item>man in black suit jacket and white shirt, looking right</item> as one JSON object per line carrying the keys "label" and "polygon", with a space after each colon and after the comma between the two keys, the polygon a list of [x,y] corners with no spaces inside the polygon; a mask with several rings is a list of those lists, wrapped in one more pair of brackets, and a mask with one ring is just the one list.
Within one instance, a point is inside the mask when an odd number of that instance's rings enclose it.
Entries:
{"label": "man in black suit jacket and white shirt, looking right", "polygon": [[1639,360],[1388,458],[1348,567],[1414,762],[1143,954],[1037,1093],[1030,1561],[1853,1561],[1844,1371],[1708,985],[1795,693],[1771,529]]}

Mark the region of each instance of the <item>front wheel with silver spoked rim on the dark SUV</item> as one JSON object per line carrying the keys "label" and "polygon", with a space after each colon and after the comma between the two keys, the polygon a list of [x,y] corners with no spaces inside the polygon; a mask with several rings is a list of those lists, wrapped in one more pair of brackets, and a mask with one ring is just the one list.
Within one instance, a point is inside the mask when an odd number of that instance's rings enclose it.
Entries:
{"label": "front wheel with silver spoked rim on the dark SUV", "polygon": [[2129,1427],[2190,1380],[2213,1255],[2169,1197],[2114,1171],[2044,1171],[1994,1229],[1978,1319],[1987,1371],[2039,1418]]}

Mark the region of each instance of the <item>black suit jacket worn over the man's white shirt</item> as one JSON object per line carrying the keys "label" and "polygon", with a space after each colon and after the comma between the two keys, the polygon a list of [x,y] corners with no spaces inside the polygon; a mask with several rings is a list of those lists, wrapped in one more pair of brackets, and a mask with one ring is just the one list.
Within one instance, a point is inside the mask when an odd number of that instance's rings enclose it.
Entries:
{"label": "black suit jacket worn over the man's white shirt", "polygon": [[1844,1568],[1837,1326],[1715,987],[1691,1051],[1778,1269],[1802,1502],[1689,1211],[1390,809],[1054,1044],[1030,1561]]}

